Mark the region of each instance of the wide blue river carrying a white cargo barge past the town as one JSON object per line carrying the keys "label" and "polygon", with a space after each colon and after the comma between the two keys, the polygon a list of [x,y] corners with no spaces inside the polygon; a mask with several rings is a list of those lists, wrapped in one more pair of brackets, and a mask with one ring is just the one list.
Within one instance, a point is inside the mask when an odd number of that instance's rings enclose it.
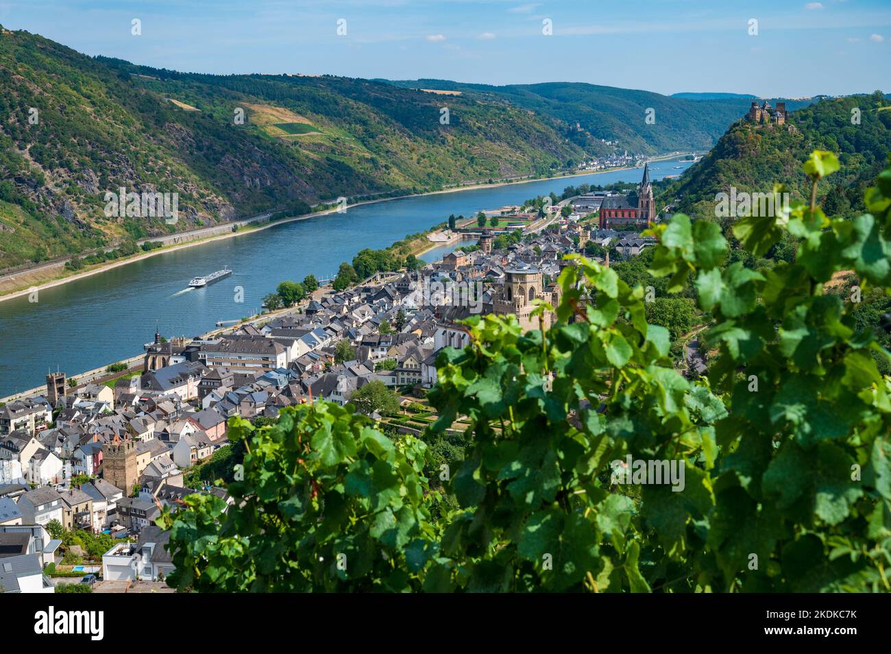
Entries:
{"label": "wide blue river carrying a white cargo barge past the town", "polygon": [[[650,176],[678,175],[683,170],[674,167],[690,165],[656,161]],[[360,249],[386,248],[449,214],[470,216],[552,191],[560,194],[570,184],[639,182],[641,175],[640,168],[616,170],[366,204],[135,261],[41,290],[36,303],[27,296],[0,302],[0,397],[39,386],[48,369],[73,375],[135,356],[153,338],[156,325],[168,338],[191,337],[217,321],[258,313],[262,298],[282,280],[299,281],[310,273],[331,278],[340,262],[352,260]],[[435,260],[446,251],[437,248],[423,258]],[[204,289],[188,288],[192,277],[226,265],[233,268],[231,277]]]}

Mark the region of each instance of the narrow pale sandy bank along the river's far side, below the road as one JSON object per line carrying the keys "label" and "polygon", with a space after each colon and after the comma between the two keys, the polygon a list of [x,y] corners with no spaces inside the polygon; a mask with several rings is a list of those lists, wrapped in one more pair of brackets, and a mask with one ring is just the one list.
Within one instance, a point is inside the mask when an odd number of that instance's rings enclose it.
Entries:
{"label": "narrow pale sandy bank along the river's far side, below the road", "polygon": [[[653,158],[650,160],[678,159],[680,157],[685,156],[686,154],[689,154],[689,153],[681,152],[681,153],[666,154],[666,155],[660,155],[659,157],[656,157],[656,158]],[[454,186],[451,188],[442,189],[439,191],[413,193],[410,195],[401,195],[396,198],[380,198],[377,200],[364,200],[361,202],[356,202],[356,204],[348,205],[346,210],[348,211],[350,208],[361,207],[361,206],[369,205],[369,204],[376,204],[379,202],[387,202],[390,200],[402,200],[405,198],[417,198],[417,197],[438,195],[441,193],[453,193],[453,192],[462,192],[462,191],[473,191],[473,190],[478,190],[478,189],[497,188],[500,186],[508,186],[508,185],[512,185],[512,184],[528,184],[528,183],[533,183],[533,182],[544,182],[544,181],[554,180],[554,179],[568,179],[571,177],[597,175],[600,173],[609,173],[609,172],[614,172],[617,170],[630,170],[633,168],[635,168],[635,167],[627,166],[627,167],[609,168],[609,169],[595,170],[595,171],[584,170],[584,171],[580,171],[580,172],[567,173],[565,175],[559,175],[559,176],[527,177],[527,178],[516,179],[516,180],[511,180],[511,181],[498,182],[495,184],[467,184],[464,186],[459,185],[459,186]],[[190,248],[195,245],[201,245],[201,244],[205,244],[205,243],[209,243],[209,242],[213,242],[213,241],[229,239],[229,238],[233,238],[233,237],[236,237],[236,236],[239,236],[242,234],[256,233],[258,231],[268,229],[269,227],[272,227],[274,225],[285,225],[285,224],[296,222],[296,221],[309,220],[309,219],[315,218],[315,217],[328,216],[328,215],[331,215],[332,213],[337,213],[338,210],[339,210],[338,208],[327,208],[327,209],[315,211],[315,212],[312,212],[309,214],[281,218],[279,220],[267,221],[264,223],[257,224],[259,219],[261,219],[263,217],[268,217],[268,213],[260,214],[257,217],[250,217],[250,218],[246,218],[241,221],[233,221],[230,224],[224,224],[225,226],[238,227],[237,231],[217,234],[214,236],[208,236],[206,238],[198,238],[193,241],[177,243],[176,245],[164,246],[164,247],[161,247],[158,249],[153,249],[149,252],[136,254],[132,257],[122,258],[117,261],[110,262],[108,264],[98,265],[93,268],[90,268],[89,270],[79,271],[79,272],[71,272],[70,274],[58,274],[58,271],[56,271],[54,273],[47,271],[47,274],[45,274],[45,275],[42,275],[42,276],[36,275],[36,274],[34,274],[33,271],[39,271],[39,270],[45,269],[47,266],[45,266],[45,265],[33,266],[32,268],[21,270],[14,274],[6,275],[5,277],[0,276],[0,302],[3,302],[4,300],[13,299],[13,298],[21,298],[21,297],[29,296],[30,294],[32,294],[34,292],[37,292],[39,295],[39,291],[41,291],[41,290],[51,289],[53,287],[61,286],[62,284],[66,284],[68,282],[74,282],[79,279],[84,279],[86,277],[90,277],[94,274],[104,273],[109,270],[113,270],[114,268],[118,268],[119,266],[127,266],[127,264],[132,264],[137,261],[142,261],[143,259],[146,259],[146,258],[155,257],[159,254],[167,254],[169,252],[174,252],[179,249]],[[438,247],[438,245],[441,245],[441,244],[431,244],[431,246],[428,249],[424,249],[423,252],[427,252],[427,251],[429,251],[429,249],[434,249],[434,248]],[[421,254],[423,252],[421,252]],[[62,272],[64,272],[65,263],[66,263],[65,261],[61,261],[57,265],[58,268],[60,268]],[[10,283],[11,280],[14,280],[15,283]],[[5,288],[5,289],[4,289],[4,284],[7,285],[7,288]]]}

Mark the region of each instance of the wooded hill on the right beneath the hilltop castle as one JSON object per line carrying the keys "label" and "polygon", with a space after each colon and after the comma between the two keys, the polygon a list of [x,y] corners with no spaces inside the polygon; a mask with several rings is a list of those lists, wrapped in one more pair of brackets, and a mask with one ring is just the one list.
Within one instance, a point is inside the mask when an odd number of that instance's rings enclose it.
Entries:
{"label": "wooded hill on the right beneath the hilltop castle", "polygon": [[[854,124],[859,110],[859,124]],[[862,211],[863,190],[887,165],[891,152],[891,101],[881,93],[824,99],[793,111],[786,127],[755,125],[740,119],[715,148],[660,198],[676,200],[674,210],[698,217],[715,215],[720,192],[771,192],[786,184],[793,199],[805,197],[810,184],[800,162],[813,150],[838,152],[841,170],[820,192],[827,214],[843,217]]]}

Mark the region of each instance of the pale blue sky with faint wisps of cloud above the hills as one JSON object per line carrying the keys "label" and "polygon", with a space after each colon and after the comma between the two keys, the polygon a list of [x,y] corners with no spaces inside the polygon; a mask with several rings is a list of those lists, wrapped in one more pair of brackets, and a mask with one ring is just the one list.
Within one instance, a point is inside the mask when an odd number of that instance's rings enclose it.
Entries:
{"label": "pale blue sky with faint wisps of cloud above the hills", "polygon": [[212,73],[891,92],[889,0],[0,0],[0,23],[91,55]]}

